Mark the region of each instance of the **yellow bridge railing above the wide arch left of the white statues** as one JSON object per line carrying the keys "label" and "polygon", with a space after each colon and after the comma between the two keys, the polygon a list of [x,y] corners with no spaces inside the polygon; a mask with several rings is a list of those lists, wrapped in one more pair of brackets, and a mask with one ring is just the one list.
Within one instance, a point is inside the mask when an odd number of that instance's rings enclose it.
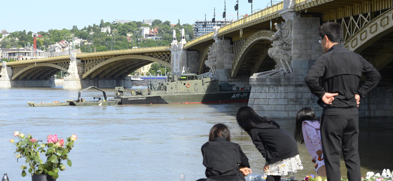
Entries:
{"label": "yellow bridge railing above the wide arch left of the white statues", "polygon": [[105,56],[105,55],[116,55],[116,54],[127,54],[127,53],[145,53],[145,52],[155,52],[155,51],[169,51],[169,46],[154,46],[154,47],[99,51],[93,53],[82,53],[82,54],[77,54],[76,57],[83,58],[83,57],[94,57],[94,56]]}

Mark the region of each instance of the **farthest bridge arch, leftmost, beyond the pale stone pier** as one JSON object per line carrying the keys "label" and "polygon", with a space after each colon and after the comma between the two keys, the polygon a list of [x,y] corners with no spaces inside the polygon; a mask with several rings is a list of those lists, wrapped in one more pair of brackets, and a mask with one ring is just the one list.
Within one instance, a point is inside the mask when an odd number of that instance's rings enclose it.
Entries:
{"label": "farthest bridge arch, leftmost, beyond the pale stone pier", "polygon": [[41,79],[47,77],[48,75],[52,75],[53,72],[56,70],[63,70],[68,73],[67,68],[61,67],[59,65],[51,64],[51,63],[38,63],[38,64],[30,65],[30,66],[20,69],[18,72],[16,72],[12,76],[12,80],[15,80],[18,77],[19,77],[19,80],[22,80],[25,77],[35,79],[38,77],[38,76],[36,76],[37,74],[45,75],[44,77],[42,77],[42,76],[40,77],[40,80],[41,80]]}

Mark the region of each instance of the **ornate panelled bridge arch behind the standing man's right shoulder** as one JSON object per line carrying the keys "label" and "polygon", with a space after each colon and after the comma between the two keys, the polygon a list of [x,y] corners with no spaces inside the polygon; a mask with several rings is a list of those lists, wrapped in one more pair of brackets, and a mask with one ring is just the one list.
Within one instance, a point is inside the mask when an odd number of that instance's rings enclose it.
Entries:
{"label": "ornate panelled bridge arch behind the standing man's right shoulder", "polygon": [[[344,46],[348,50],[362,54],[366,48],[377,43],[381,38],[393,32],[393,8],[382,13],[350,37]],[[388,53],[392,52],[392,53]],[[373,60],[369,60],[375,68],[381,70],[393,60],[393,42],[378,49]]]}

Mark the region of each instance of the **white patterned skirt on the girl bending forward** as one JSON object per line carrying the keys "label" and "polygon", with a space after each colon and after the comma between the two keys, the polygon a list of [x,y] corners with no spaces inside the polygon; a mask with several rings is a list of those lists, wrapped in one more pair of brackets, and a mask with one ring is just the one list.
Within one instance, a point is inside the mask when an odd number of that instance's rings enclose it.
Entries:
{"label": "white patterned skirt on the girl bending forward", "polygon": [[[266,166],[266,165],[265,165]],[[266,179],[267,176],[293,176],[297,170],[302,170],[303,165],[300,160],[300,156],[286,158],[281,161],[269,164],[269,169],[267,169],[262,178]]]}

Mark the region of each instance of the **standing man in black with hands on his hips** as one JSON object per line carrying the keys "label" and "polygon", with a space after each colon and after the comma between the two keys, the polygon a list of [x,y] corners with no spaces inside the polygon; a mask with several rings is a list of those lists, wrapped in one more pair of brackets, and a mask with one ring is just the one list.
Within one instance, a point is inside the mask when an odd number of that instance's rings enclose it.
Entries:
{"label": "standing man in black with hands on his hips", "polygon": [[[338,23],[319,27],[319,43],[324,55],[315,61],[306,75],[310,91],[323,107],[321,119],[322,149],[328,181],[341,181],[340,154],[344,155],[349,181],[360,181],[358,153],[360,99],[381,79],[378,70],[361,55],[345,49]],[[359,88],[362,73],[365,83]],[[322,83],[319,84],[319,78]]]}

